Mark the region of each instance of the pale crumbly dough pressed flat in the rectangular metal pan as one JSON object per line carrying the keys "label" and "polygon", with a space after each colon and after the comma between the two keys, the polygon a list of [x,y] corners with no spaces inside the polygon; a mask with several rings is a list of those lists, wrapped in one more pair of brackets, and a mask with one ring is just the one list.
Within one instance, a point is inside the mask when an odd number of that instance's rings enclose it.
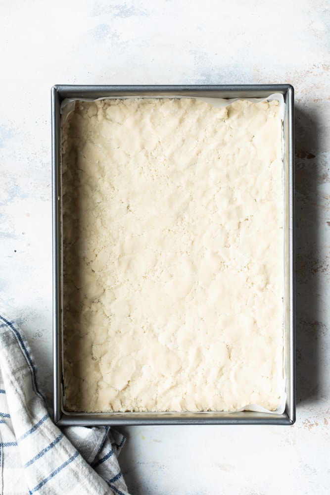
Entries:
{"label": "pale crumbly dough pressed flat in the rectangular metal pan", "polygon": [[62,136],[66,409],[275,410],[278,101],[77,101]]}

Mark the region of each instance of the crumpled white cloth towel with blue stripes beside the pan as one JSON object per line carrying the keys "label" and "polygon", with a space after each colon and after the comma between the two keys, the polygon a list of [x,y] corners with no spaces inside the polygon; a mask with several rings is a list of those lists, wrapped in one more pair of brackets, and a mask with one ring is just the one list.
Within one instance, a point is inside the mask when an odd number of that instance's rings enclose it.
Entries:
{"label": "crumpled white cloth towel with blue stripes beside the pan", "polygon": [[27,340],[0,315],[0,495],[129,495],[124,441],[109,427],[54,425]]}

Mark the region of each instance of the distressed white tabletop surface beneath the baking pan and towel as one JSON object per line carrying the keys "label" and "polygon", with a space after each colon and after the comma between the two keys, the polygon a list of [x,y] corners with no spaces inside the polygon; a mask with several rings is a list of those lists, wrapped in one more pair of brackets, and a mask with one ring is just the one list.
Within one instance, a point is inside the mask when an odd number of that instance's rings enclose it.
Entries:
{"label": "distressed white tabletop surface beneath the baking pan and towel", "polygon": [[125,428],[121,462],[133,495],[329,493],[329,1],[2,0],[0,24],[0,301],[48,397],[51,86],[293,84],[297,422]]}

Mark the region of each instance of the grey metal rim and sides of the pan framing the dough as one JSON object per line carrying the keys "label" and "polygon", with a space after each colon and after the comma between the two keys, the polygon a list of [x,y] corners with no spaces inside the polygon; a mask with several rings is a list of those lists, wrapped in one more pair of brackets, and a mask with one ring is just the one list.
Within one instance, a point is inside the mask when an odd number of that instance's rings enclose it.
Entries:
{"label": "grey metal rim and sides of the pan framing the dough", "polygon": [[[286,360],[286,370],[289,378],[287,381],[287,401],[283,414],[264,414],[243,411],[239,413],[194,413],[187,415],[161,413],[159,415],[125,413],[103,413],[103,414],[73,414],[64,412],[62,409],[61,396],[61,343],[58,327],[58,286],[55,276],[58,277],[58,239],[53,235],[53,329],[54,329],[54,412],[55,423],[59,426],[67,425],[160,425],[160,424],[263,424],[263,425],[292,425],[295,421],[295,341],[294,341],[294,134],[293,134],[293,113],[294,113],[294,90],[290,84],[273,85],[173,85],[173,86],[78,86],[78,85],[55,85],[52,88],[52,164],[53,164],[53,198],[54,184],[57,184],[57,167],[59,166],[58,138],[60,136],[60,102],[65,98],[101,98],[106,96],[201,96],[210,97],[217,93],[218,98],[265,98],[271,93],[281,93],[287,105],[286,123],[288,132],[287,160],[289,174],[289,353]],[[55,186],[57,191],[57,186]],[[56,204],[55,204],[56,203]],[[58,233],[58,206],[57,196],[53,199],[53,229]],[[54,215],[55,211],[55,215]],[[54,218],[55,216],[55,218]],[[57,278],[58,281],[58,278]],[[55,311],[55,309],[57,311]],[[57,313],[57,314],[55,314]]]}

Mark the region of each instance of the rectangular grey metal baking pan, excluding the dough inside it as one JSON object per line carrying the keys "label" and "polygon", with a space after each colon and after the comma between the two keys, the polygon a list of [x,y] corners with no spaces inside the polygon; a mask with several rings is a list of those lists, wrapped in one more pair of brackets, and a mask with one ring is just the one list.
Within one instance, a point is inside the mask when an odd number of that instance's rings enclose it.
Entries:
{"label": "rectangular grey metal baking pan, excluding the dough inside it", "polygon": [[[62,376],[62,239],[61,239],[61,116],[65,98],[124,97],[267,98],[283,95],[284,135],[284,372],[286,403],[282,414],[241,412],[201,413],[72,413],[63,407]],[[53,418],[64,425],[160,425],[160,424],[268,424],[291,425],[295,421],[294,340],[294,91],[289,84],[200,86],[67,86],[51,89],[52,103],[52,229],[53,229]]]}

